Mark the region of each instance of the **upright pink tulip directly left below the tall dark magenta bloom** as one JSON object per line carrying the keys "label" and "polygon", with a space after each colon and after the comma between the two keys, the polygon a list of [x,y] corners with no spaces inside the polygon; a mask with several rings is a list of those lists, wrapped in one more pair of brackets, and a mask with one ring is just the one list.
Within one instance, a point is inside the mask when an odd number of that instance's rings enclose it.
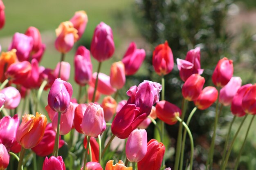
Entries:
{"label": "upright pink tulip directly left below the tall dark magenta bloom", "polygon": [[92,79],[92,62],[90,51],[84,46],[79,46],[74,57],[75,81],[80,86],[85,86]]}

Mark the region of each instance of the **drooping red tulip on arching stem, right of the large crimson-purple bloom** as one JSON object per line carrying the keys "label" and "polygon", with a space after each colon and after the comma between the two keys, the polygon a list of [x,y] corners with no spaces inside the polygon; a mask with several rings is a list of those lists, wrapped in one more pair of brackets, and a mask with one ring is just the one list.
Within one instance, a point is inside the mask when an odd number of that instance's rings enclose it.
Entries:
{"label": "drooping red tulip on arching stem, right of the large crimson-purple bloom", "polygon": [[176,124],[178,121],[176,117],[180,117],[181,115],[180,108],[165,100],[162,100],[155,105],[155,112],[157,113],[157,118],[169,125]]}

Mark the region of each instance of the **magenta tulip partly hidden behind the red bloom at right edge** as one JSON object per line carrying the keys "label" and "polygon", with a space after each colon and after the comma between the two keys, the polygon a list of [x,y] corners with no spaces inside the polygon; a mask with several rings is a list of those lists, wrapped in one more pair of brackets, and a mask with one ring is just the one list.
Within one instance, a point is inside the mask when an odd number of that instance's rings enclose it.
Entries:
{"label": "magenta tulip partly hidden behind the red bloom at right edge", "polygon": [[246,84],[242,87],[240,87],[236,93],[236,95],[233,97],[232,102],[231,102],[231,112],[233,115],[242,117],[246,113],[242,108],[242,101],[243,101],[243,96],[247,92],[247,88],[252,86],[252,84]]}

